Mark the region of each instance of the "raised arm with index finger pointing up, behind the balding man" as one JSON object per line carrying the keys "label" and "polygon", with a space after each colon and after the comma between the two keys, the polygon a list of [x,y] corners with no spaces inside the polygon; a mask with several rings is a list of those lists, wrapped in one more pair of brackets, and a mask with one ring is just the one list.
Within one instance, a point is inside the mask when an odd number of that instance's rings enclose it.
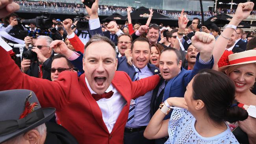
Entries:
{"label": "raised arm with index finger pointing up, behind the balding man", "polygon": [[[184,15],[184,9],[182,9],[180,13],[180,17],[178,18],[178,26],[179,26],[178,33],[184,33],[184,30],[187,26],[187,22],[189,22],[189,20],[187,19],[186,15]],[[177,35],[177,37],[181,39],[183,36]],[[173,48],[180,50],[180,43],[178,39],[175,40]]]}

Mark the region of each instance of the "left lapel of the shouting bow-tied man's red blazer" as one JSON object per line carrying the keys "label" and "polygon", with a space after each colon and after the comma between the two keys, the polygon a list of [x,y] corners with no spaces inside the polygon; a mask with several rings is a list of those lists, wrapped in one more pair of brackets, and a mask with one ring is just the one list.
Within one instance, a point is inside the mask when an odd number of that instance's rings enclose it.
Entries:
{"label": "left lapel of the shouting bow-tied man's red blazer", "polygon": [[103,118],[102,118],[102,112],[100,110],[100,107],[98,106],[98,103],[95,101],[93,96],[91,95],[90,90],[88,89],[86,83],[85,83],[85,75],[82,74],[79,78],[79,84],[80,88],[83,92],[83,95],[85,98],[89,101],[89,105],[91,107],[91,111],[93,113],[93,116],[95,117],[98,124],[104,129],[107,133],[109,133],[107,126],[105,125]]}

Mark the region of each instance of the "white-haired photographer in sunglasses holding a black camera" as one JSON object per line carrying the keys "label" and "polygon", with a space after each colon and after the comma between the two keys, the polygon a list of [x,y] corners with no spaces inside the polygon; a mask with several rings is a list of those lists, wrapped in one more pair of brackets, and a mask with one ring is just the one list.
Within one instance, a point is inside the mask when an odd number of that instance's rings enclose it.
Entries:
{"label": "white-haired photographer in sunglasses holding a black camera", "polygon": [[32,57],[33,59],[23,58],[21,71],[29,76],[51,80],[50,68],[52,65],[53,52],[49,46],[52,42],[52,38],[44,35],[37,37],[33,48],[29,48],[29,45],[33,44],[32,37],[26,37],[24,41],[25,47],[28,48],[28,50],[24,49],[27,50],[27,53],[34,54],[35,57]]}

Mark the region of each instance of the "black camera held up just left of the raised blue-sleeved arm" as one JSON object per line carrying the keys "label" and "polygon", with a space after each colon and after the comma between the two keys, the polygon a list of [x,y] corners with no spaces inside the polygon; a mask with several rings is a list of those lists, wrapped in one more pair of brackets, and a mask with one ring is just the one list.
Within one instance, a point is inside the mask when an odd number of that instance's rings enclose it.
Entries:
{"label": "black camera held up just left of the raised blue-sleeved arm", "polygon": [[78,11],[80,11],[80,9],[74,9],[77,13],[77,16],[74,18],[74,21],[78,21],[76,23],[76,29],[77,30],[88,30],[89,29],[89,20],[87,20],[86,18],[84,18],[84,14],[80,13],[78,14]]}

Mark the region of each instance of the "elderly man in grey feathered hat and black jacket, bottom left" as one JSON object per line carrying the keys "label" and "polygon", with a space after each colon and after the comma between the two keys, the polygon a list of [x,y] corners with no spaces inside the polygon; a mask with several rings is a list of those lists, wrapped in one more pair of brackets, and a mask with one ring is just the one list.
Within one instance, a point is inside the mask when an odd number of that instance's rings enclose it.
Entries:
{"label": "elderly man in grey feathered hat and black jacket, bottom left", "polygon": [[42,108],[31,90],[4,90],[0,98],[1,144],[78,144],[62,126],[47,122],[55,109]]}

